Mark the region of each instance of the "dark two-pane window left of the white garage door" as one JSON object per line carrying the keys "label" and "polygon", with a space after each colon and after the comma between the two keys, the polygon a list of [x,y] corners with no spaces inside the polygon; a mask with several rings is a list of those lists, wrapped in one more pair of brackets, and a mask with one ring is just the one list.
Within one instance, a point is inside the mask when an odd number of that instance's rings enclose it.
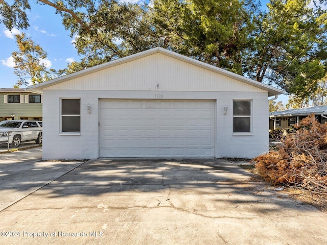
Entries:
{"label": "dark two-pane window left of the white garage door", "polygon": [[81,131],[81,100],[61,99],[61,132]]}

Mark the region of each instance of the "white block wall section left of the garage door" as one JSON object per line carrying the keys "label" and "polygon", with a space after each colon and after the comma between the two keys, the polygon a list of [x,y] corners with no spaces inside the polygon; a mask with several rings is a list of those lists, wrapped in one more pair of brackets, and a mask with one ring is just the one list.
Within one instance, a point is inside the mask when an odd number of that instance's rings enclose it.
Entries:
{"label": "white block wall section left of the garage door", "polygon": [[[98,97],[91,91],[44,91],[42,158],[98,158]],[[60,134],[60,98],[81,99],[81,135]],[[91,106],[91,114],[87,112]]]}

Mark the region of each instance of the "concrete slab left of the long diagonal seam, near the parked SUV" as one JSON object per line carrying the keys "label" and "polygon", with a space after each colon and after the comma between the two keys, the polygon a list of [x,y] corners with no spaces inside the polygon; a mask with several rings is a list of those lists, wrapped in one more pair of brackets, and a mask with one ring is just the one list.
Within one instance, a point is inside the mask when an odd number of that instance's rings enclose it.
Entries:
{"label": "concrete slab left of the long diagonal seam, near the parked SUV", "polygon": [[41,158],[41,147],[0,154],[0,211],[82,163],[42,162]]}

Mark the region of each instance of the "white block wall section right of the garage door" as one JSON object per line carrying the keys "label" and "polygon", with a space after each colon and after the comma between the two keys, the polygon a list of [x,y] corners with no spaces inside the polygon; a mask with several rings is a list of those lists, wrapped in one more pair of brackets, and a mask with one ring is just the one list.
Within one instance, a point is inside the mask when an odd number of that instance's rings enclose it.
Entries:
{"label": "white block wall section right of the garage door", "polygon": [[[251,135],[233,135],[233,100],[252,100]],[[224,106],[228,106],[223,115]],[[217,99],[216,157],[253,158],[269,151],[266,93],[225,93]]]}

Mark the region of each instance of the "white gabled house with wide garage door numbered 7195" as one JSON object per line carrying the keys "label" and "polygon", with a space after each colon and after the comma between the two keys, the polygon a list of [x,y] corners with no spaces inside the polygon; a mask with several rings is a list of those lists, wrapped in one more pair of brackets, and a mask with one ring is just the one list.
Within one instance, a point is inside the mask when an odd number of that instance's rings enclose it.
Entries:
{"label": "white gabled house with wide garage door numbered 7195", "polygon": [[28,90],[43,94],[43,159],[252,158],[283,92],[159,47]]}

